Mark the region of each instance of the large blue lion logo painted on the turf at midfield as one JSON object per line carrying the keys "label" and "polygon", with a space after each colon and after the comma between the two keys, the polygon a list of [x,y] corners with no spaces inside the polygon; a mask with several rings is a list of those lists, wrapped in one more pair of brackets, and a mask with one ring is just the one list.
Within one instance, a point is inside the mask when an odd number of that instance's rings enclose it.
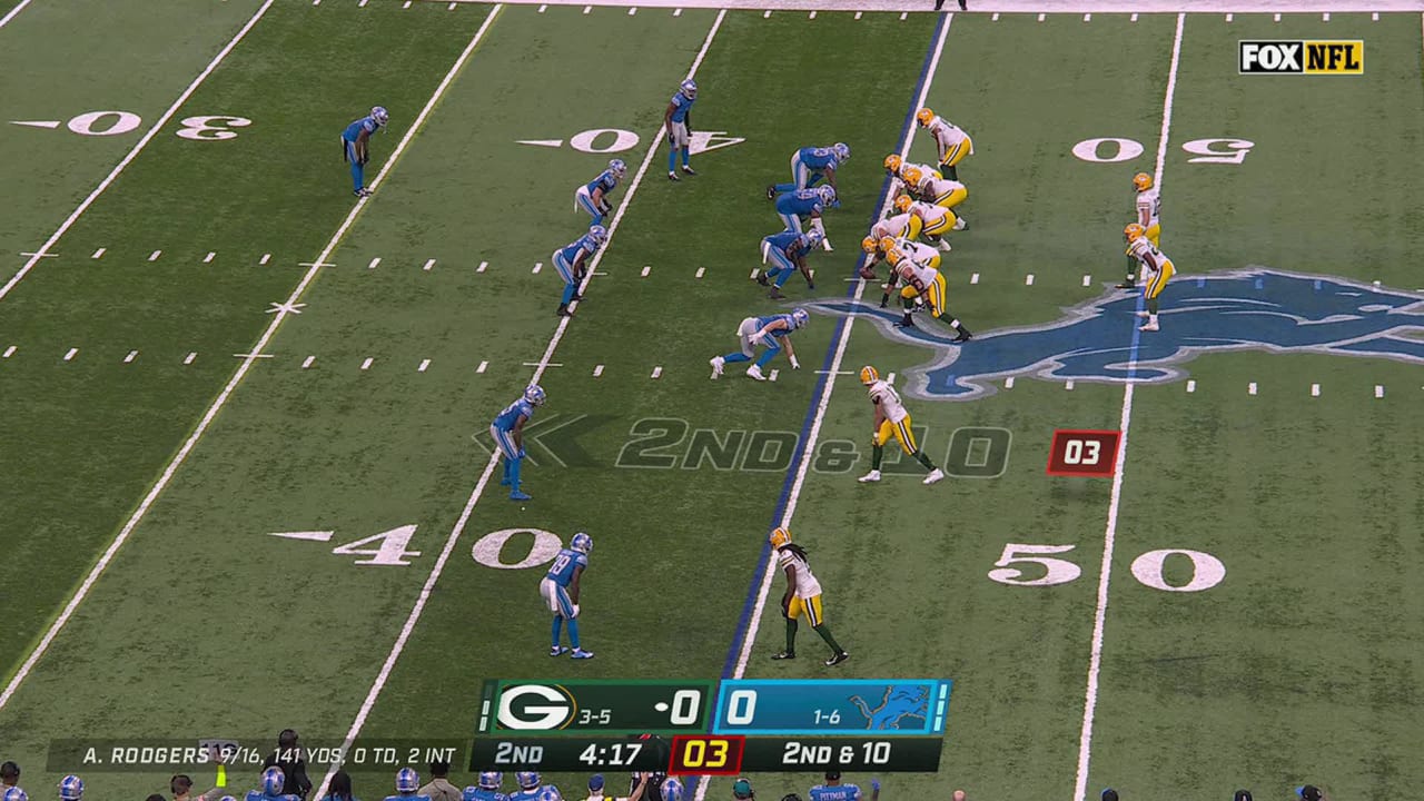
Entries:
{"label": "large blue lion logo painted on the turf at midfield", "polygon": [[[1142,334],[1138,292],[1108,291],[1064,309],[1062,319],[975,335],[950,345],[931,319],[896,328],[899,309],[844,299],[813,311],[870,318],[887,336],[930,345],[940,358],[911,371],[914,395],[970,400],[993,379],[1166,383],[1202,353],[1334,353],[1424,363],[1424,295],[1324,275],[1249,268],[1179,277],[1162,296],[1162,331]],[[953,308],[953,306],[951,306]]]}

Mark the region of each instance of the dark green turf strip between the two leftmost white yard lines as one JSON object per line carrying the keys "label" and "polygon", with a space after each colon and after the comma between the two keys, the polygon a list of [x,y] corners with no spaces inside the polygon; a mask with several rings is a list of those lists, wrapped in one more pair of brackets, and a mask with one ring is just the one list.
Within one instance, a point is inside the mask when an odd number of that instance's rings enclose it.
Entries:
{"label": "dark green turf strip between the two leftmost white yard lines", "polygon": [[[387,98],[397,123],[376,148],[379,165],[483,19],[480,9],[399,11],[273,6],[191,100],[241,110],[253,125],[228,141],[155,140],[61,239],[66,255],[6,298],[7,345],[19,351],[0,399],[14,425],[0,542],[33,577],[6,593],[26,646],[9,658],[28,651],[232,375],[232,353],[251,348],[271,321],[263,311],[295,288],[296,262],[315,258],[350,208],[340,128],[372,95]],[[340,56],[384,37],[394,37],[394,66],[355,86]],[[100,247],[103,259],[87,258]],[[219,257],[202,264],[208,251]],[[263,252],[272,261],[259,267]],[[64,363],[68,348],[80,355]],[[130,351],[140,356],[124,365]],[[199,356],[182,366],[189,352]]]}

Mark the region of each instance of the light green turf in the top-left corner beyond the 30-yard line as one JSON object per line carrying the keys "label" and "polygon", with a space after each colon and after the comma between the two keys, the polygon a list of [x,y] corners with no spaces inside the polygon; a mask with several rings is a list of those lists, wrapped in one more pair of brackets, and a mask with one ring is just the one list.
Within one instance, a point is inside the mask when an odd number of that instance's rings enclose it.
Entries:
{"label": "light green turf in the top-left corner beyond the 30-yard line", "polygon": [[[0,3],[0,16],[14,6]],[[37,1],[0,30],[0,74],[11,77],[3,84],[7,123],[67,123],[87,111],[128,111],[142,118],[131,133],[103,137],[80,135],[64,124],[0,128],[0,148],[24,154],[6,164],[10,211],[0,215],[0,252],[6,254],[0,275],[9,279],[24,264],[19,252],[44,244],[261,6],[261,0]],[[61,46],[57,31],[63,31]],[[174,123],[191,114],[242,113],[211,105],[215,100],[208,95],[209,104],[189,105]]]}

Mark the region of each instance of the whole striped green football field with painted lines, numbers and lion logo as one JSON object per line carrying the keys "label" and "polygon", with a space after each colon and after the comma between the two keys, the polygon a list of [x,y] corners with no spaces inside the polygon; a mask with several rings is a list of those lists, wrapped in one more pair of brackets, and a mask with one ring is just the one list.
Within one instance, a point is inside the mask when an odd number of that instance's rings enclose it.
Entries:
{"label": "whole striped green football field with painted lines, numbers and lion logo", "polygon": [[[467,744],[490,678],[826,677],[954,683],[940,772],[879,775],[886,801],[1415,791],[1420,11],[728,6],[0,0],[0,760],[31,797],[178,772],[63,741]],[[1239,71],[1239,43],[1296,40],[1361,41],[1363,74]],[[669,181],[688,77],[698,174]],[[376,104],[357,200],[336,140]],[[857,277],[881,160],[936,160],[923,105],[974,141],[943,262],[963,345]],[[833,143],[834,249],[772,301],[765,188]],[[609,158],[560,318],[551,257]],[[1139,171],[1176,265],[1158,332],[1114,286]],[[792,308],[799,369],[709,381],[743,318]],[[856,480],[863,365],[946,480],[893,443]],[[521,503],[488,426],[533,382]],[[1116,449],[1054,449],[1068,429]],[[805,624],[772,661],[775,526],[844,664]],[[553,660],[538,584],[575,532],[597,657]]]}

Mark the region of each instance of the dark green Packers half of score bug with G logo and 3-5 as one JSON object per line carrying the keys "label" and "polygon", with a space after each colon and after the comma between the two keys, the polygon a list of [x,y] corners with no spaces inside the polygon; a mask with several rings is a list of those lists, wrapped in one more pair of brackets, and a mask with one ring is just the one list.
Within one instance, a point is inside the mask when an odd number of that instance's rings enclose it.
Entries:
{"label": "dark green Packers half of score bug with G logo and 3-5", "polygon": [[487,681],[478,731],[705,731],[712,697],[711,681]]}

